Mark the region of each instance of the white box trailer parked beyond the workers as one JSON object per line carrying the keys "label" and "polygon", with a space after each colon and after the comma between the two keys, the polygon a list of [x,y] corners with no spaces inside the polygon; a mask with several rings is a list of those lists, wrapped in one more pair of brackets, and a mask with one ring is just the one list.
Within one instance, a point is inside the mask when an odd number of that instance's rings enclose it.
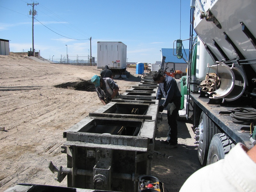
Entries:
{"label": "white box trailer parked beyond the workers", "polygon": [[98,42],[97,68],[126,71],[126,48],[122,42]]}

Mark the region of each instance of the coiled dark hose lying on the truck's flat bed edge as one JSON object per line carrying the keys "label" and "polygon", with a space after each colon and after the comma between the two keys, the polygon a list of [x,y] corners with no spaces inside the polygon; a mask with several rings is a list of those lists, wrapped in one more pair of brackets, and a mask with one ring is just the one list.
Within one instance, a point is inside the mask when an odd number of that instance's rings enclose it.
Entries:
{"label": "coiled dark hose lying on the truck's flat bed edge", "polygon": [[251,123],[256,123],[256,110],[246,109],[246,108],[234,108],[230,116],[232,122],[236,124],[249,125]]}

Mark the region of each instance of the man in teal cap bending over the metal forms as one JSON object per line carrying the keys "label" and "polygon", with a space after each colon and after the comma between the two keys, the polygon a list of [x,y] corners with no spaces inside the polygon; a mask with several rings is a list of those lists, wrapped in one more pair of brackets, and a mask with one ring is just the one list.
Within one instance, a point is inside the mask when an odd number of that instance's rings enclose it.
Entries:
{"label": "man in teal cap bending over the metal forms", "polygon": [[103,105],[108,104],[112,99],[119,96],[118,85],[111,78],[93,76],[91,82],[95,85],[98,97]]}

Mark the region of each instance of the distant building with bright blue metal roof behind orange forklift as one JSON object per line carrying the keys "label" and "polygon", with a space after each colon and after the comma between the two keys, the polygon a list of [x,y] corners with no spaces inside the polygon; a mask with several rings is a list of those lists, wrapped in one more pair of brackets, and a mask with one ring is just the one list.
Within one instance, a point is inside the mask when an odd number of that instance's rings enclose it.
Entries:
{"label": "distant building with bright blue metal roof behind orange forklift", "polygon": [[[174,52],[173,52],[174,51]],[[189,49],[182,49],[183,58],[185,59],[178,59],[177,56],[174,56],[173,53],[176,55],[176,49],[165,49],[162,48],[162,58],[165,56],[165,62],[164,62],[164,69],[167,69],[166,72],[170,72],[172,68],[175,68],[175,70],[181,70],[182,72],[186,72],[186,68],[188,67],[188,64],[185,60],[188,60],[189,56]],[[161,65],[161,64],[160,64]],[[175,67],[174,67],[175,66]]]}

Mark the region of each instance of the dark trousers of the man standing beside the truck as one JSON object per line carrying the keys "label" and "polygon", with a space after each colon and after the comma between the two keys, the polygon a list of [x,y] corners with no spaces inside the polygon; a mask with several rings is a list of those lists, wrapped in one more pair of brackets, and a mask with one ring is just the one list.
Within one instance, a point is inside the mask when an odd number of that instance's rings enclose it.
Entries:
{"label": "dark trousers of the man standing beside the truck", "polygon": [[[173,109],[173,103],[175,104],[175,109]],[[171,145],[177,145],[178,144],[178,125],[177,125],[177,116],[180,110],[180,104],[181,101],[175,100],[173,103],[168,103],[167,105],[167,122],[169,125],[169,132],[167,133],[167,141]]]}

